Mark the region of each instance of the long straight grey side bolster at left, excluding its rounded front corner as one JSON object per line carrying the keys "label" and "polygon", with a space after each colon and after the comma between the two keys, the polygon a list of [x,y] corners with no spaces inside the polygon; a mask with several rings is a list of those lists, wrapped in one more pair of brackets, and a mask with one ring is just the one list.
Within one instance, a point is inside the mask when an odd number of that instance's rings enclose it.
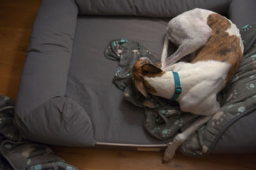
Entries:
{"label": "long straight grey side bolster at left, excluding its rounded front corner", "polygon": [[19,117],[52,97],[65,96],[76,20],[74,0],[40,4],[15,105]]}

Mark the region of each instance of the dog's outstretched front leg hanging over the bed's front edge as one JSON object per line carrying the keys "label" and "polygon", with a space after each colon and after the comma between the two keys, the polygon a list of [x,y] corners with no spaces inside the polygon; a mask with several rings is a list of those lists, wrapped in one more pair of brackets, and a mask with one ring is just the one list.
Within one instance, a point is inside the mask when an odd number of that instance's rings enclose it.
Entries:
{"label": "dog's outstretched front leg hanging over the bed's front edge", "polygon": [[172,143],[168,143],[168,147],[164,151],[163,163],[172,160],[177,148],[179,148],[179,146],[182,145],[182,143],[184,143],[184,141],[186,141],[186,139],[188,139],[189,136],[193,134],[193,132],[195,132],[199,127],[205,124],[205,122],[207,122],[210,118],[211,116],[198,118],[197,120],[195,120],[195,122],[193,122],[191,126],[189,126],[188,129],[186,129],[186,131],[177,134],[177,136],[175,136],[175,138],[173,139]]}

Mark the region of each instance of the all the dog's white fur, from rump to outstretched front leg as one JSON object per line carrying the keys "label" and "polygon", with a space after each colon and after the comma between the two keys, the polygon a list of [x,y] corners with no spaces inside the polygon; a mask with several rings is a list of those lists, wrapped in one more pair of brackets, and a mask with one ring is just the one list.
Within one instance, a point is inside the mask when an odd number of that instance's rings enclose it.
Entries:
{"label": "all the dog's white fur, from rump to outstretched front leg", "polygon": [[[175,136],[164,152],[163,162],[170,161],[175,154],[175,150],[196,129],[205,124],[211,118],[211,115],[220,110],[220,104],[216,101],[216,95],[225,85],[230,64],[215,60],[193,64],[185,62],[174,64],[182,57],[195,52],[207,43],[212,34],[211,28],[207,25],[207,17],[211,13],[214,12],[196,8],[170,20],[161,56],[162,69],[166,73],[163,76],[154,78],[144,76],[144,79],[156,89],[157,93],[154,95],[170,99],[175,92],[172,71],[178,72],[182,87],[182,92],[177,98],[180,109],[196,115],[206,116],[198,118],[186,131]],[[240,38],[240,46],[243,52],[244,47],[239,30],[231,21],[230,23],[231,27],[227,32]],[[167,58],[169,40],[179,46],[179,48]],[[216,43],[218,42],[216,41]]]}

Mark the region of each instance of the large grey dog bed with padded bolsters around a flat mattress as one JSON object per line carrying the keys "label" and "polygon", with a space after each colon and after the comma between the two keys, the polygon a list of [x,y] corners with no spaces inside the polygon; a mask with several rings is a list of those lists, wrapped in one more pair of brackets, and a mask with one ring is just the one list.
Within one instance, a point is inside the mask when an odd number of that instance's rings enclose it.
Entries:
{"label": "large grey dog bed with padded bolsters around a flat mattress", "polygon": [[[204,8],[241,28],[256,21],[255,6],[253,0],[43,0],[22,71],[15,125],[24,137],[52,145],[164,148],[171,138],[150,136],[143,129],[143,108],[125,100],[113,85],[118,62],[104,57],[106,45],[125,37],[159,60],[171,18]],[[170,53],[174,50],[170,45]],[[254,120],[252,110],[234,124],[227,122],[207,152],[255,152]]]}

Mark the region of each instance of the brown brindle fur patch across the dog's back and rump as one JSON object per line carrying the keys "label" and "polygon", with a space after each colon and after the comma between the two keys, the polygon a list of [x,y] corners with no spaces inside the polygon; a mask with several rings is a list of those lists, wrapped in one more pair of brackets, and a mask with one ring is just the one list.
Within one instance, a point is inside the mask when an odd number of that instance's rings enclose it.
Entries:
{"label": "brown brindle fur patch across the dog's back and rump", "polygon": [[230,22],[219,14],[212,13],[207,18],[207,24],[212,29],[211,38],[207,44],[196,51],[196,57],[191,63],[207,60],[218,60],[231,64],[228,71],[226,83],[236,73],[243,57],[240,47],[240,39],[228,34],[227,29],[231,27]]}

